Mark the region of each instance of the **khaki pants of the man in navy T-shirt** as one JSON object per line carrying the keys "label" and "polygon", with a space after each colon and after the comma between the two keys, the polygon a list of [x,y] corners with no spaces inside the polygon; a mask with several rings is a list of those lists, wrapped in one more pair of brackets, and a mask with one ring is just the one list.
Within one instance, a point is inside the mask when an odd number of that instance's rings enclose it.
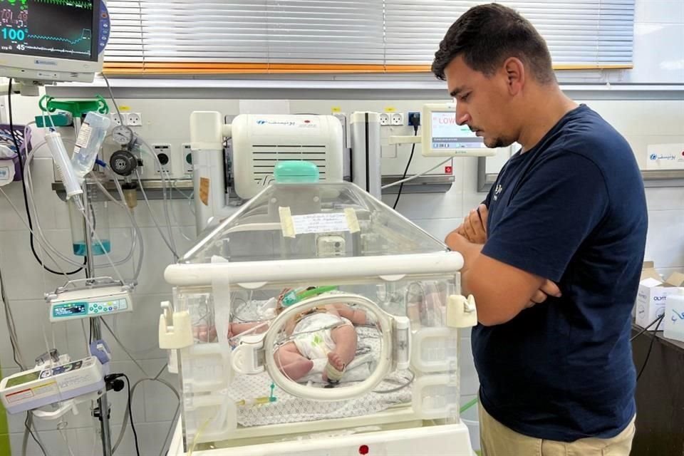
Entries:
{"label": "khaki pants of the man in navy T-shirt", "polygon": [[609,439],[589,437],[569,443],[541,440],[510,430],[480,404],[482,456],[628,456],[634,430],[632,419],[622,432]]}

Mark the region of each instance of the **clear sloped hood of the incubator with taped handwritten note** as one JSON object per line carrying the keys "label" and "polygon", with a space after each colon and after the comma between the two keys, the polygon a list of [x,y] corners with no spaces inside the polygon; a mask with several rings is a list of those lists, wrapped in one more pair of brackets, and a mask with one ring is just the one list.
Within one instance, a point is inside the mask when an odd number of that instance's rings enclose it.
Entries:
{"label": "clear sloped hood of the incubator with taped handwritten note", "polygon": [[349,182],[271,185],[181,262],[368,257],[445,251],[445,245]]}

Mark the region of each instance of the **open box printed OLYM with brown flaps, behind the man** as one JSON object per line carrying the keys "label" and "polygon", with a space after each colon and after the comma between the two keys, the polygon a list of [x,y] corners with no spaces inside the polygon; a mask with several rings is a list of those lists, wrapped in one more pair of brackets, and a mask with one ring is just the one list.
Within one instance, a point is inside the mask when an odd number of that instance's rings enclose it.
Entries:
{"label": "open box printed OLYM with brown flaps, behind the man", "polygon": [[[646,261],[641,271],[639,291],[636,295],[636,324],[646,328],[655,321],[655,318],[665,313],[665,302],[668,295],[678,293],[679,288],[684,286],[684,274],[673,272],[668,279],[663,278],[655,270],[652,261]],[[655,331],[658,324],[651,326],[649,331]],[[663,330],[663,323],[658,327]]]}

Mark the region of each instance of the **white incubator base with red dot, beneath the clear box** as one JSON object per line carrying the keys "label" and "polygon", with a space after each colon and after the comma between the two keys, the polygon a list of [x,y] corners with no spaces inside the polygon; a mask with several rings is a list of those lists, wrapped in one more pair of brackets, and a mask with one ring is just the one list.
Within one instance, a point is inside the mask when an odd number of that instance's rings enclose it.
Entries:
{"label": "white incubator base with red dot, beneath the clear box", "polygon": [[[371,426],[375,427],[375,426]],[[376,427],[379,429],[379,427]],[[414,427],[398,430],[364,429],[366,432],[335,435],[334,431],[296,437],[280,442],[240,447],[195,450],[193,456],[474,456],[468,428],[462,422],[455,425]],[[370,431],[370,432],[368,432]],[[169,456],[186,456],[183,433],[178,423],[169,447]]]}

